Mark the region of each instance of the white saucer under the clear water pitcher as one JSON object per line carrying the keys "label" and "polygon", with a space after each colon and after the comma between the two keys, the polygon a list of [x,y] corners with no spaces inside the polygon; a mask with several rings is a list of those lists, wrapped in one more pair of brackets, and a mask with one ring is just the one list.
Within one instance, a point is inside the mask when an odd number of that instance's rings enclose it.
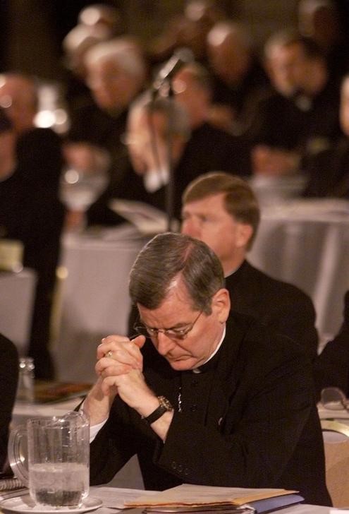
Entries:
{"label": "white saucer under the clear water pitcher", "polygon": [[24,512],[24,513],[82,513],[87,512],[87,510],[94,510],[96,508],[102,507],[102,501],[99,498],[94,498],[93,496],[87,496],[85,498],[84,503],[81,507],[76,508],[49,508],[43,506],[35,505],[32,498],[30,498],[29,494],[25,494],[24,496],[18,496],[17,498],[8,498],[7,500],[0,502],[1,510],[8,510],[10,512]]}

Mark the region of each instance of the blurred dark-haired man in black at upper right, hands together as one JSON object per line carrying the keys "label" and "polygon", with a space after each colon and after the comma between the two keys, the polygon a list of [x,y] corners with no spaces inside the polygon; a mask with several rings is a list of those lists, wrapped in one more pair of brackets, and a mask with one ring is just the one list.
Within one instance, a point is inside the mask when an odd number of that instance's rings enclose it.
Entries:
{"label": "blurred dark-haired man in black at upper right, hands together", "polygon": [[283,176],[300,172],[300,160],[338,137],[338,85],[330,80],[317,44],[293,30],[265,45],[274,90],[259,101],[249,137],[252,172]]}

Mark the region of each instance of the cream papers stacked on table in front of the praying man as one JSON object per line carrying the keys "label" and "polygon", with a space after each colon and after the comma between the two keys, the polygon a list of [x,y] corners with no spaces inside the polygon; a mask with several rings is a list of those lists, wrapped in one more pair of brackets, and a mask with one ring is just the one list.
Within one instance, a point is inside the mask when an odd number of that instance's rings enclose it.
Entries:
{"label": "cream papers stacked on table in front of the praying man", "polygon": [[214,487],[182,484],[166,489],[154,496],[142,495],[133,501],[125,501],[128,507],[183,507],[183,506],[245,506],[252,501],[297,493],[286,489],[246,489],[239,487]]}

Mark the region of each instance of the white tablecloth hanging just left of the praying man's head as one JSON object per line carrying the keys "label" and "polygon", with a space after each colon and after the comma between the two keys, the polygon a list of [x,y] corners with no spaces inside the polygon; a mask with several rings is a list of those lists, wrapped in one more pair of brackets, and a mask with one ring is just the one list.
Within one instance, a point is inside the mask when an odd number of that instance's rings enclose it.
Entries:
{"label": "white tablecloth hanging just left of the praying man's head", "polygon": [[147,239],[130,226],[64,237],[61,264],[68,275],[61,288],[61,328],[52,348],[59,381],[93,383],[102,337],[126,333],[128,274]]}

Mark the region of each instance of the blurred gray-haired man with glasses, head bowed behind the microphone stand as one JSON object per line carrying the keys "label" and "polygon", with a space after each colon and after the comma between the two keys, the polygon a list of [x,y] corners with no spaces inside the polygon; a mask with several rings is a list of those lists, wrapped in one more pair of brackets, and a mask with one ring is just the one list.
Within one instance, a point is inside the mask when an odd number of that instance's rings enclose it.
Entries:
{"label": "blurred gray-haired man with glasses, head bowed behind the microphone stand", "polygon": [[[89,225],[120,222],[108,208],[111,198],[142,201],[167,212],[170,141],[173,215],[178,219],[185,187],[202,172],[219,168],[244,174],[239,168],[241,143],[230,134],[206,124],[204,119],[191,131],[193,122],[183,104],[176,100],[160,96],[152,100],[147,94],[140,97],[130,109],[125,133],[132,167],[125,162],[123,179],[111,184],[88,210]],[[236,163],[234,155],[237,156]]]}

